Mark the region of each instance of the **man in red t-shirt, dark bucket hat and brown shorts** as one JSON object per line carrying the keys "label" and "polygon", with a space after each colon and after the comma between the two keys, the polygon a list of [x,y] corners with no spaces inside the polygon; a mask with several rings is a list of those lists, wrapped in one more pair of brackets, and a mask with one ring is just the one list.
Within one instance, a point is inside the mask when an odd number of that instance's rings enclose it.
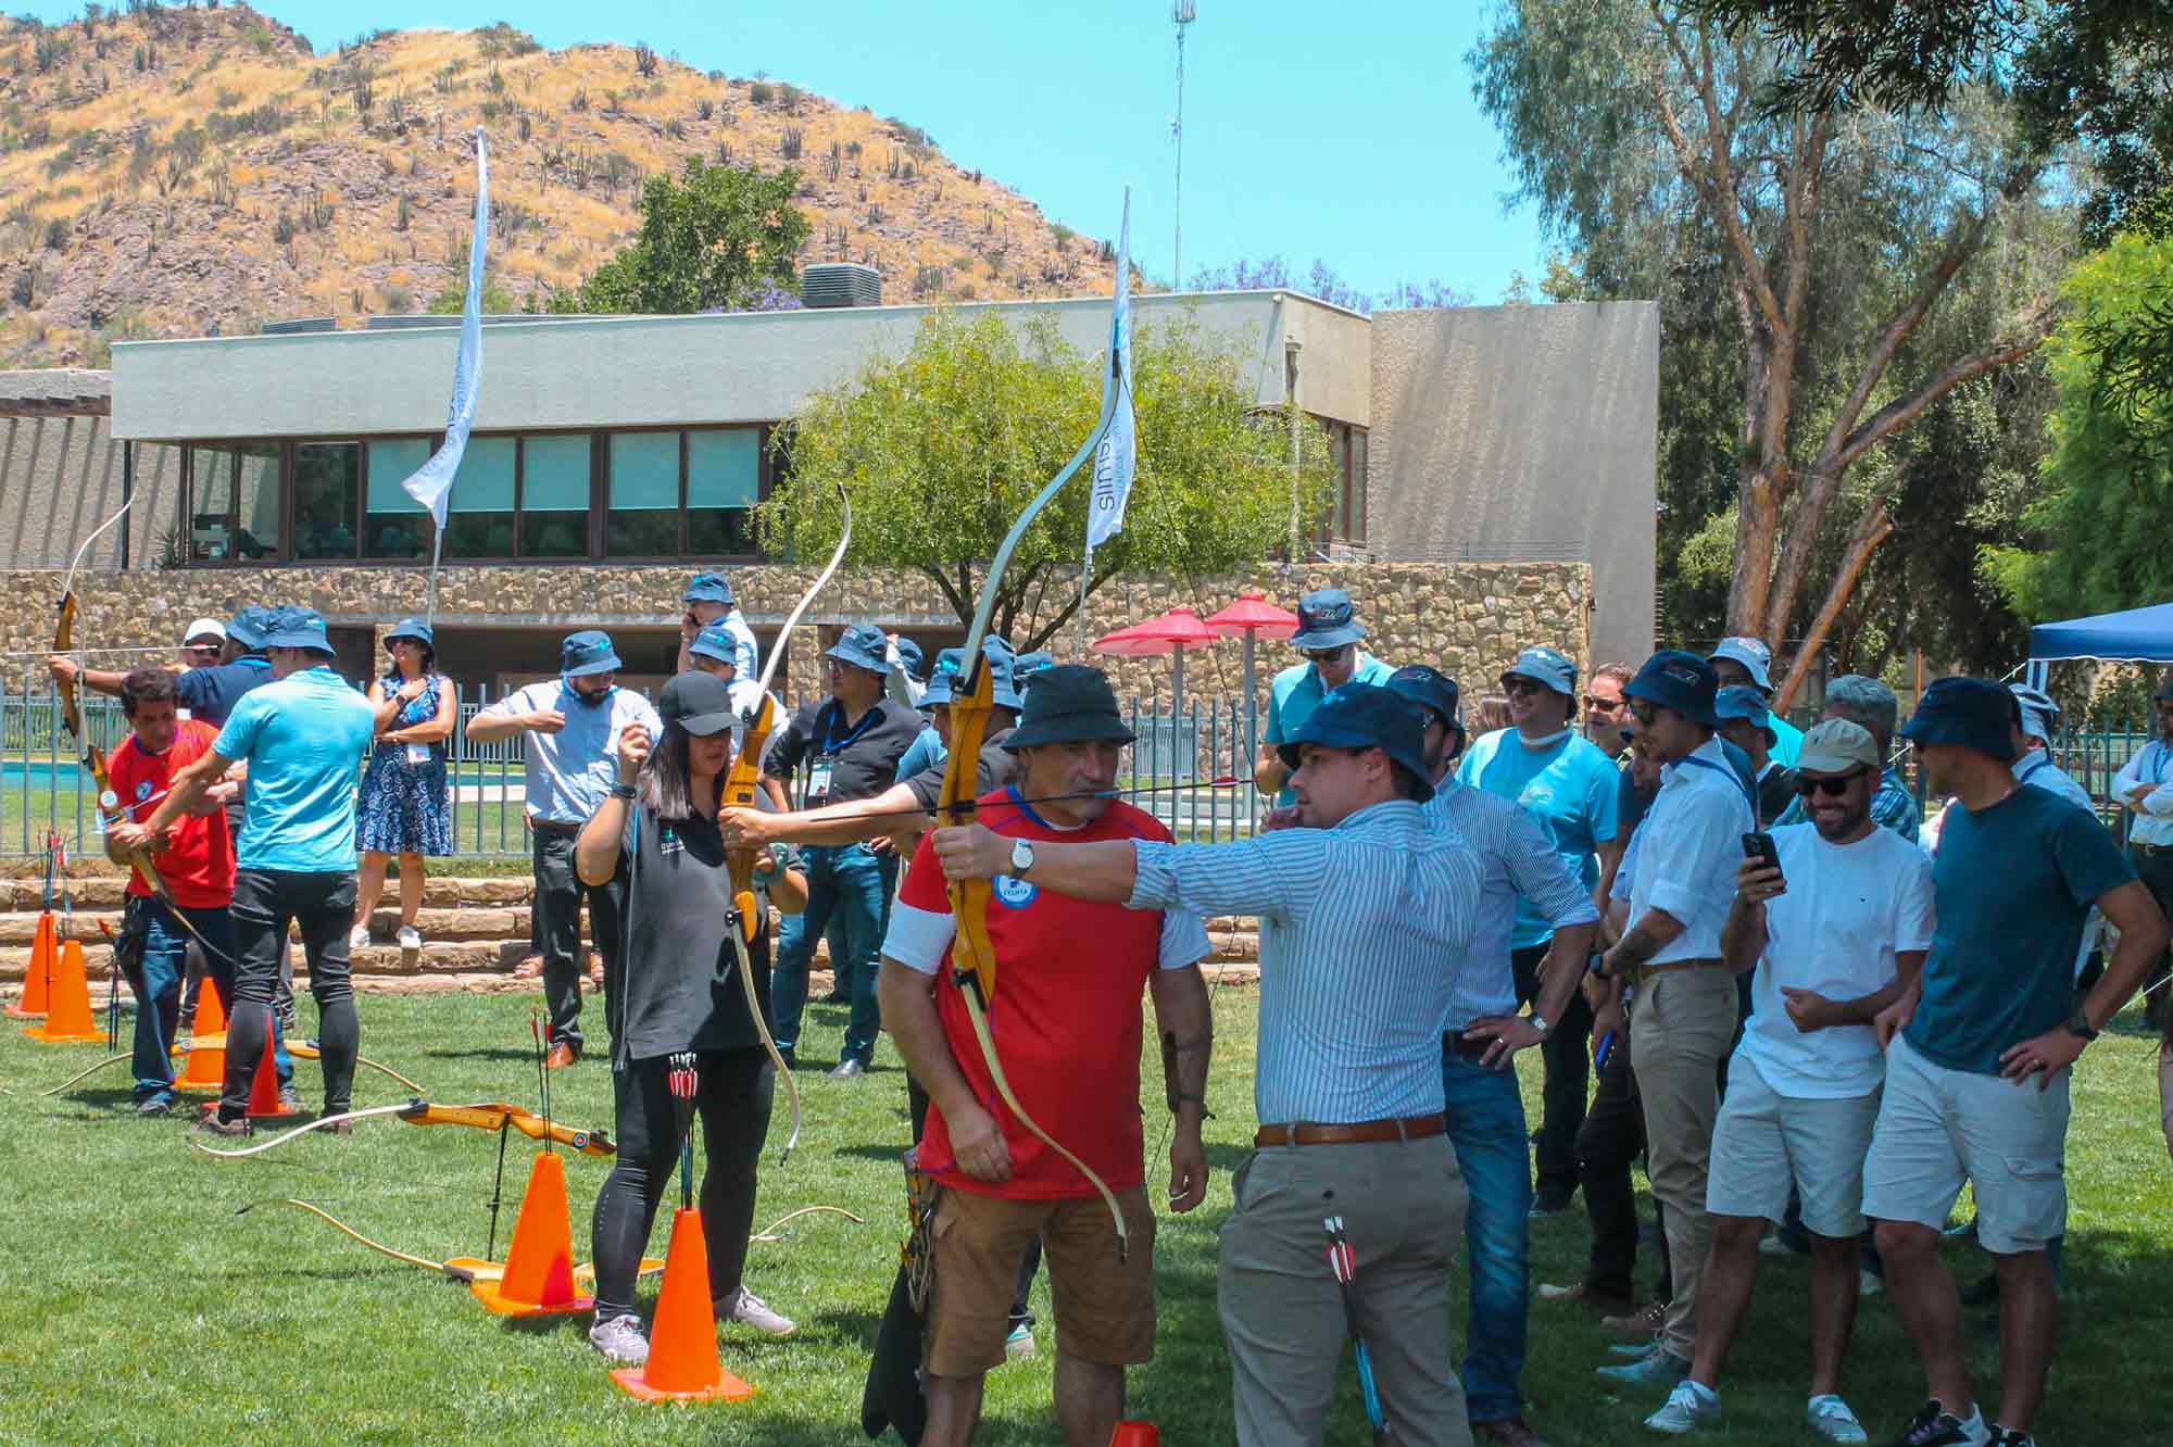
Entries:
{"label": "man in red t-shirt, dark bucket hat and brown shorts", "polygon": [[[980,800],[980,821],[1019,841],[1158,839],[1152,815],[1108,797],[1132,730],[1100,669],[1034,678],[1004,747],[1023,784]],[[997,984],[989,1034],[1026,1112],[1084,1160],[1123,1208],[1130,1251],[1093,1184],[1000,1099],[967,1002],[952,978],[956,921],[943,867],[924,843],[882,943],[882,1026],[928,1091],[919,1165],[941,1186],[934,1286],[926,1308],[926,1447],[965,1447],[980,1386],[1004,1360],[1019,1260],[1039,1234],[1056,1301],[1056,1421],[1069,1447],[1102,1447],[1123,1417],[1123,1369],[1154,1356],[1154,1210],[1139,1108],[1143,991],[1176,1045],[1171,1210],[1206,1197],[1210,1015],[1197,915],[1128,910],[995,880],[989,939]]]}

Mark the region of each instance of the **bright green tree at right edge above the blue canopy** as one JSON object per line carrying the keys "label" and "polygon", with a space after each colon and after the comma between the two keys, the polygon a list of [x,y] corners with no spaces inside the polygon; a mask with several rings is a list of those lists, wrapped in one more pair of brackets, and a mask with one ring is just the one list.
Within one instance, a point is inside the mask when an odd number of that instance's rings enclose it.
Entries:
{"label": "bright green tree at right edge above the blue canopy", "polygon": [[2173,295],[2173,239],[2114,237],[2075,263],[2069,315],[2049,352],[2058,387],[2043,491],[2023,521],[2027,548],[1986,548],[1984,571],[2030,619],[2108,613],[2173,597],[2164,548],[2173,458],[2156,445],[2173,428],[2173,395],[2112,398],[2103,348],[2166,326],[2153,298]]}

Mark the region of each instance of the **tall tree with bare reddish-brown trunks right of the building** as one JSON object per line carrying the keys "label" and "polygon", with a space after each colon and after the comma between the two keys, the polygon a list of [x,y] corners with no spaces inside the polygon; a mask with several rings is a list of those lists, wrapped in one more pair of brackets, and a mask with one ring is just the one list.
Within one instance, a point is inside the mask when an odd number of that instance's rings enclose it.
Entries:
{"label": "tall tree with bare reddish-brown trunks right of the building", "polygon": [[[2023,289],[1958,350],[1923,345],[1956,278],[2038,200],[2047,152],[2004,98],[1973,89],[1947,115],[1760,109],[1788,59],[1695,0],[1515,0],[1471,52],[1521,196],[1558,239],[1671,254],[1719,289],[1741,358],[1725,626],[1797,641],[1782,702],[1895,528],[1851,469],[2049,328],[2049,298]],[[1710,448],[1710,426],[1693,441]],[[1832,524],[1841,545],[1814,567]]]}

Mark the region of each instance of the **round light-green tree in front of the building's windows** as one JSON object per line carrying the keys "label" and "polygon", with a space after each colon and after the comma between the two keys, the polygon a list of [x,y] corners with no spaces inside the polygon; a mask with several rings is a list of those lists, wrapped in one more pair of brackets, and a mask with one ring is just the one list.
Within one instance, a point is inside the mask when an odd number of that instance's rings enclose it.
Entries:
{"label": "round light-green tree in front of the building's windows", "polygon": [[[1123,532],[1095,550],[1089,593],[1126,574],[1199,576],[1256,563],[1291,517],[1289,415],[1263,411],[1241,356],[1191,315],[1139,322],[1132,402],[1139,471]],[[934,311],[900,356],[811,395],[780,448],[789,480],[756,513],[763,543],[800,558],[837,545],[837,487],[852,498],[850,561],[932,578],[971,621],[987,561],[1095,424],[1102,358],[1050,317]],[[1306,517],[1334,489],[1328,437],[1299,426]],[[1091,463],[1086,465],[1091,467]],[[780,469],[784,471],[784,469]],[[1084,471],[1084,467],[1082,467]],[[1076,476],[1019,541],[993,626],[1039,647],[1078,611],[1089,478]]]}

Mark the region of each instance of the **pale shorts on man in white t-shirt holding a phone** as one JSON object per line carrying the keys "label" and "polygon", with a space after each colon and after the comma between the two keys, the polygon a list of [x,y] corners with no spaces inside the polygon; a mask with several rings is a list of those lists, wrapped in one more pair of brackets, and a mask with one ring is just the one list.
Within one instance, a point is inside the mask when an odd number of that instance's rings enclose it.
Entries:
{"label": "pale shorts on man in white t-shirt holding a phone", "polygon": [[1738,1049],[1712,1125],[1706,1210],[1780,1223],[1793,1184],[1806,1230],[1856,1236],[1864,1230],[1864,1154],[1877,1119],[1877,1091],[1841,1099],[1780,1095]]}

